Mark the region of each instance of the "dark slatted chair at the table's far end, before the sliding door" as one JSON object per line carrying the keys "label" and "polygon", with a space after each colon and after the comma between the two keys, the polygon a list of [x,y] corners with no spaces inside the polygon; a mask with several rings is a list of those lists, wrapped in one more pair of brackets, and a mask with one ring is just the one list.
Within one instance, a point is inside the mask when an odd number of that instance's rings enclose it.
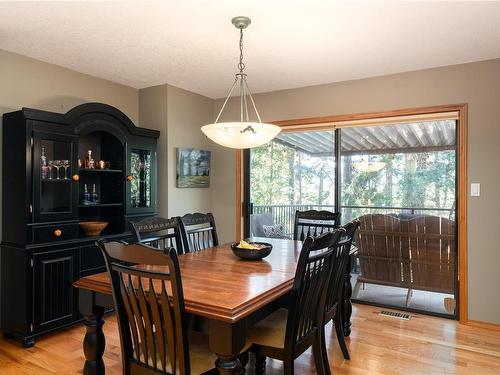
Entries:
{"label": "dark slatted chair at the table's far end, before the sliding door", "polygon": [[317,237],[340,226],[340,213],[330,211],[295,211],[293,239],[304,241],[307,236]]}

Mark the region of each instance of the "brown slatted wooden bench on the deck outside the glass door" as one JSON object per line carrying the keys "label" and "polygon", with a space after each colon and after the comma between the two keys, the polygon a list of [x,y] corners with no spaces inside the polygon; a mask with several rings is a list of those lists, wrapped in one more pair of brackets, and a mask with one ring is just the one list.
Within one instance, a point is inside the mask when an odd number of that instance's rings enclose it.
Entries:
{"label": "brown slatted wooden bench on the deck outside the glass door", "polygon": [[356,246],[362,283],[412,290],[455,293],[455,222],[438,216],[398,218],[367,214],[359,217]]}

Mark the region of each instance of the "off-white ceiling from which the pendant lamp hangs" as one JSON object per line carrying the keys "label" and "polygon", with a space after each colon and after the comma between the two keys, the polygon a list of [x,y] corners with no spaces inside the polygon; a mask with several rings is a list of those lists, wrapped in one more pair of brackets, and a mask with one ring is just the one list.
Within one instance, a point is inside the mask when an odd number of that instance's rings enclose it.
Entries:
{"label": "off-white ceiling from which the pendant lamp hangs", "polygon": [[135,88],[219,98],[500,57],[500,2],[0,2],[0,49]]}

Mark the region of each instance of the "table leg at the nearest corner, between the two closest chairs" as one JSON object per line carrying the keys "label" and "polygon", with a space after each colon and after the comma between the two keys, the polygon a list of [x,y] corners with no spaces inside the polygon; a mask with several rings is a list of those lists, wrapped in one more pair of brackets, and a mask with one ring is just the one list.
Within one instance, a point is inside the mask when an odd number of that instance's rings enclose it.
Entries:
{"label": "table leg at the nearest corner, between the two closest chairs", "polygon": [[209,346],[217,355],[215,366],[220,375],[240,375],[244,373],[238,354],[245,345],[245,331],[242,323],[225,323],[218,320],[209,322]]}

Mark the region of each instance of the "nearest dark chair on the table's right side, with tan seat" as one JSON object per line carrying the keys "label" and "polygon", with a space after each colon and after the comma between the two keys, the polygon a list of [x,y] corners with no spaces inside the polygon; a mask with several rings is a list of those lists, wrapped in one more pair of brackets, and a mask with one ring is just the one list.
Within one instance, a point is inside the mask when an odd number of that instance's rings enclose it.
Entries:
{"label": "nearest dark chair on the table's right side, with tan seat", "polygon": [[325,374],[320,332],[323,329],[326,284],[334,266],[343,229],[307,237],[299,255],[287,308],[280,308],[248,330],[247,344],[255,353],[255,374],[265,372],[266,357],[284,362],[284,374],[294,373],[294,360],[313,347],[318,374]]}

